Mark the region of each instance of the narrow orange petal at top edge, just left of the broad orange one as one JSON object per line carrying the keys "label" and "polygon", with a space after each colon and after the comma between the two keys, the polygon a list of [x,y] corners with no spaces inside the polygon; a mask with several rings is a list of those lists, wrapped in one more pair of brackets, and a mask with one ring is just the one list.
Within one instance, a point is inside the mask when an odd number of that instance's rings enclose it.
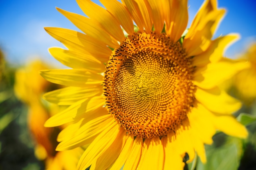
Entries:
{"label": "narrow orange petal at top edge, just left of the broad orange one", "polygon": [[155,32],[161,33],[164,28],[164,7],[162,0],[148,0],[150,5]]}

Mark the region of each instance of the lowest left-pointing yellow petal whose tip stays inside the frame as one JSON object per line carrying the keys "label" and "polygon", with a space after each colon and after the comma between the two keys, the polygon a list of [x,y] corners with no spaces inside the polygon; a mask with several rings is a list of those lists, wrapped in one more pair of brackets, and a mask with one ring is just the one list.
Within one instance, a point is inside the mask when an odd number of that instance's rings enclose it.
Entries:
{"label": "lowest left-pointing yellow petal whose tip stays inside the frame", "polygon": [[70,150],[90,144],[96,135],[101,133],[106,127],[114,123],[114,119],[111,115],[103,115],[87,122],[79,127],[78,130],[73,131],[72,138],[66,139],[58,144],[56,150]]}

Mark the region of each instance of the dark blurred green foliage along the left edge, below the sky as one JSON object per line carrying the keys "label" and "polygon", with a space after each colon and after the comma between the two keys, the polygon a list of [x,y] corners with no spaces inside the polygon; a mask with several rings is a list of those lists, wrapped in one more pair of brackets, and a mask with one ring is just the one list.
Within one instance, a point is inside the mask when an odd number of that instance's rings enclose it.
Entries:
{"label": "dark blurred green foliage along the left edge, below the sky", "polygon": [[34,156],[27,108],[13,92],[17,68],[7,62],[0,64],[0,170],[43,170],[43,164]]}

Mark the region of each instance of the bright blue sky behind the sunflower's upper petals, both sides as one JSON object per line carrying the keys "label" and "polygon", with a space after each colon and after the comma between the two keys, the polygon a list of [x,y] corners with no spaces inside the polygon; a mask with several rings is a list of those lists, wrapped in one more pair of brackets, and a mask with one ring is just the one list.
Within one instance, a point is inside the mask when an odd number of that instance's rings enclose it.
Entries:
{"label": "bright blue sky behind the sunflower's upper petals, both sides", "polygon": [[[189,0],[189,24],[202,2]],[[75,0],[0,0],[0,48],[11,64],[22,64],[35,57],[57,63],[49,55],[48,48],[63,45],[48,35],[43,27],[79,30],[58,13],[55,7],[84,15]],[[227,13],[215,37],[228,33],[241,35],[241,39],[225,53],[227,57],[234,57],[245,50],[248,44],[256,41],[256,1],[219,0],[218,7],[224,7]]]}

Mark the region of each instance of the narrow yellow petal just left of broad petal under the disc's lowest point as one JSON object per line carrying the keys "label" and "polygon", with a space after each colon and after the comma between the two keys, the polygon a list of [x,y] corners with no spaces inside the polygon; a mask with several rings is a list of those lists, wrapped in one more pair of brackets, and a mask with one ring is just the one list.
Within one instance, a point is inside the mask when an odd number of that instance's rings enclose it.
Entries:
{"label": "narrow yellow petal just left of broad petal under the disc's lowest point", "polygon": [[128,156],[123,170],[137,170],[139,160],[141,158],[141,149],[143,146],[143,139],[136,138],[132,145],[132,150]]}

